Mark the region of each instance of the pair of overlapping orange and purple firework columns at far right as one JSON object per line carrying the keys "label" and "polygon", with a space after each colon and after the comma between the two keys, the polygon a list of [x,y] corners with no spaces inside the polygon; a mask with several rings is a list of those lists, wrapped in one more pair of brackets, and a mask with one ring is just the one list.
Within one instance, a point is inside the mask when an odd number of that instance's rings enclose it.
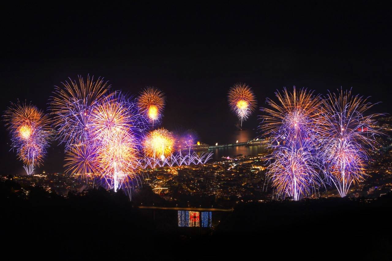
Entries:
{"label": "pair of overlapping orange and purple firework columns at far right", "polygon": [[374,118],[381,114],[365,116],[372,104],[351,91],[322,98],[294,87],[276,97],[279,102],[267,99],[270,108],[261,108],[260,129],[272,139],[267,177],[278,195],[298,200],[333,183],[346,196],[350,185],[366,176],[368,152],[381,134]]}

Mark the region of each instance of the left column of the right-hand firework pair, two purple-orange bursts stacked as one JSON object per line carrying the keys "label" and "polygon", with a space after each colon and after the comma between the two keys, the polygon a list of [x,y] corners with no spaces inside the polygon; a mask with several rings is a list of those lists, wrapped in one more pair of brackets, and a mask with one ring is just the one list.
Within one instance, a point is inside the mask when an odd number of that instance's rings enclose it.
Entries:
{"label": "left column of the right-hand firework pair, two purple-orange bursts stacked", "polygon": [[268,178],[278,194],[295,200],[309,195],[320,185],[316,148],[323,133],[320,125],[322,99],[306,89],[276,92],[278,102],[267,99],[270,108],[261,108],[260,129],[271,138],[273,150],[267,158]]}

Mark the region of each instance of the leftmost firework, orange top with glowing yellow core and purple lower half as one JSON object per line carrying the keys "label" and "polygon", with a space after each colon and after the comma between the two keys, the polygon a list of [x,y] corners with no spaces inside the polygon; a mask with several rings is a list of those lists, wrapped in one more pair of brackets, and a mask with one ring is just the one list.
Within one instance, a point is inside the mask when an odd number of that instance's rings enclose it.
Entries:
{"label": "leftmost firework, orange top with glowing yellow core and purple lower half", "polygon": [[31,175],[34,166],[42,164],[51,138],[50,121],[44,112],[34,105],[11,103],[4,113],[6,126],[11,134],[12,147],[26,164],[25,170]]}

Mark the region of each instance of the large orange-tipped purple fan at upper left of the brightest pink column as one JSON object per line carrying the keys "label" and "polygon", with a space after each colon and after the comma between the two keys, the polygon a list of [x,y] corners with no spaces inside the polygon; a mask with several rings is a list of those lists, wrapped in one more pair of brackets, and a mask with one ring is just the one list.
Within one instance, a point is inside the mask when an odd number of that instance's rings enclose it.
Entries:
{"label": "large orange-tipped purple fan at upper left of the brightest pink column", "polygon": [[78,82],[71,80],[57,87],[50,100],[49,109],[54,116],[54,127],[57,138],[64,142],[67,149],[71,145],[79,145],[86,142],[87,122],[91,108],[104,97],[110,85],[98,78],[87,76],[84,81],[78,76]]}

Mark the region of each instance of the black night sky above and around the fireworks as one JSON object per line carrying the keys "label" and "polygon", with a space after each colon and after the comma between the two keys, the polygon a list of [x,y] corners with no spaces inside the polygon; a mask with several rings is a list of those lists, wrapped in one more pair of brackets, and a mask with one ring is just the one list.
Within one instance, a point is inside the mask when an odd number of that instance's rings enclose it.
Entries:
{"label": "black night sky above and around the fireworks", "polygon": [[[322,94],[342,86],[390,112],[391,10],[283,3],[5,7],[0,109],[18,98],[46,109],[54,85],[91,74],[131,94],[162,89],[163,127],[193,128],[207,143],[235,130],[226,95],[240,81],[259,107],[284,86]],[[245,127],[257,127],[257,115]],[[4,171],[22,172],[4,127],[0,134]],[[47,171],[62,170],[62,149],[49,150]]]}

